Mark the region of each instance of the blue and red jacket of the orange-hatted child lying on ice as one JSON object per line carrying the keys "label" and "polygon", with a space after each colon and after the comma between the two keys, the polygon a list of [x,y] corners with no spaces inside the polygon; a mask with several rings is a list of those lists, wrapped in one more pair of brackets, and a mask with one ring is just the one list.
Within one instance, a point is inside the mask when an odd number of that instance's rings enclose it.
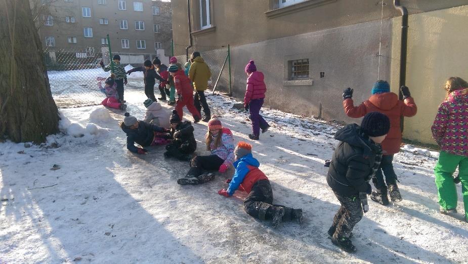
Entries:
{"label": "blue and red jacket of the orange-hatted child lying on ice", "polygon": [[232,176],[227,193],[231,196],[239,188],[239,185],[249,193],[253,184],[260,180],[268,180],[267,176],[259,169],[260,163],[249,153],[234,162],[236,173]]}

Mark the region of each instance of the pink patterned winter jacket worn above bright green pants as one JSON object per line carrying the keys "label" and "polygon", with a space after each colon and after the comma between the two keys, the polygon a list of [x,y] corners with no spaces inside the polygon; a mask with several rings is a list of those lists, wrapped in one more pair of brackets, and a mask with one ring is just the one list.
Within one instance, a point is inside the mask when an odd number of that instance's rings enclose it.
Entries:
{"label": "pink patterned winter jacket worn above bright green pants", "polygon": [[468,88],[447,96],[439,106],[431,129],[443,151],[468,156]]}

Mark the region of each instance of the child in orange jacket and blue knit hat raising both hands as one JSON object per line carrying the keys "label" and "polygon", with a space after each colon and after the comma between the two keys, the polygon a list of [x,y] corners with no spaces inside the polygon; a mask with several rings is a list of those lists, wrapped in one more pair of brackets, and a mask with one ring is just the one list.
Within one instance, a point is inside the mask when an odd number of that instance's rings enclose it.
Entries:
{"label": "child in orange jacket and blue knit hat raising both hands", "polygon": [[[398,100],[396,93],[390,92],[390,85],[384,80],[378,80],[372,87],[372,96],[368,100],[361,103],[358,107],[353,105],[353,90],[348,88],[343,93],[343,105],[346,115],[352,118],[360,118],[370,112],[384,113],[390,118],[390,132],[382,142],[382,150],[384,156],[380,163],[380,168],[375,173],[372,182],[376,191],[372,192],[370,198],[383,205],[389,204],[389,197],[392,202],[402,200],[400,190],[397,185],[397,175],[393,169],[393,155],[400,151],[401,145],[401,128],[400,117],[412,117],[416,115],[416,104],[409,92],[408,87],[402,86],[403,101]],[[386,180],[384,181],[385,173]],[[387,183],[387,184],[386,184]]]}

